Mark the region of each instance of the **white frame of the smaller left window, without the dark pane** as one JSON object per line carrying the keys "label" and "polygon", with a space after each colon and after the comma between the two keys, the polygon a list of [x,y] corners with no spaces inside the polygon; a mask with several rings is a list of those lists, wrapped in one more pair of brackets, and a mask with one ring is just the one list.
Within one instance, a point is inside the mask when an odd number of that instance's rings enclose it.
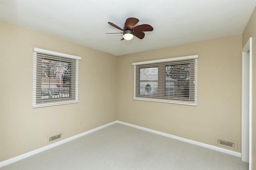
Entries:
{"label": "white frame of the smaller left window, without the dark pane", "polygon": [[[55,51],[49,51],[45,49],[34,48],[34,63],[33,63],[33,107],[45,107],[45,106],[55,106],[61,104],[71,104],[78,103],[78,71],[79,71],[79,60],[81,57],[68,55],[64,53],[58,53]],[[42,85],[41,88],[38,88],[38,84],[42,83],[42,57],[40,55],[48,55],[50,58],[49,61],[56,61],[60,63],[70,63],[70,91],[68,97],[58,97],[51,99],[42,98]],[[64,59],[65,61],[60,61]],[[51,77],[49,77],[51,78]],[[50,79],[49,79],[50,80]],[[50,82],[50,81],[49,81]],[[52,100],[52,101],[50,101]],[[49,102],[50,101],[50,102]]]}

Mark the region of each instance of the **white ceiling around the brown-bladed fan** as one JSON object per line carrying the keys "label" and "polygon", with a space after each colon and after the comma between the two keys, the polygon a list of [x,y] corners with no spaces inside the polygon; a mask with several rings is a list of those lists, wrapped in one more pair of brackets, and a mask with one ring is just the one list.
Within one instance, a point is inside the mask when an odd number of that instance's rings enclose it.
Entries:
{"label": "white ceiling around the brown-bladed fan", "polygon": [[[116,56],[240,34],[256,0],[0,0],[0,19]],[[127,18],[154,30],[122,39]]]}

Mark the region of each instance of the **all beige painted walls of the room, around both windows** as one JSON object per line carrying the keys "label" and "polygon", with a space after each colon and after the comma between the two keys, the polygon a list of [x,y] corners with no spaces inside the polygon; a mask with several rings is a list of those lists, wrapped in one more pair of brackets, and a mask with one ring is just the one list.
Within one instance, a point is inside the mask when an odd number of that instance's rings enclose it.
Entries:
{"label": "all beige painted walls of the room, around both windows", "polygon": [[[49,135],[64,132],[68,138],[115,120],[216,147],[220,146],[215,144],[215,137],[236,141],[238,149],[230,150],[240,152],[241,50],[249,37],[256,44],[255,30],[256,10],[242,35],[116,57],[1,21],[0,161],[48,145]],[[32,108],[33,47],[82,57],[80,103]],[[256,45],[252,50],[256,51]],[[188,55],[199,56],[198,106],[132,100],[132,63]],[[253,52],[253,77],[255,74]],[[254,88],[253,169],[255,100]],[[82,125],[78,125],[80,120]]]}

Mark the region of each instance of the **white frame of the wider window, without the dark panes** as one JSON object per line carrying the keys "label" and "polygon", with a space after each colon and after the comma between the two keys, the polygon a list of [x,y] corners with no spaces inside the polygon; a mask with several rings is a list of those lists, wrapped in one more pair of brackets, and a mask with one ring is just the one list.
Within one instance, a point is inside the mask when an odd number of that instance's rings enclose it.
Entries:
{"label": "white frame of the wider window, without the dark panes", "polygon": [[[140,94],[140,68],[147,68],[147,64],[160,64],[158,65],[158,74],[165,74],[165,67],[168,66],[165,63],[166,62],[172,62],[172,61],[182,61],[182,60],[189,60],[189,59],[194,59],[193,67],[190,68],[190,77],[192,78],[189,81],[189,87],[193,87],[194,90],[194,95],[192,97],[192,100],[185,101],[182,100],[182,98],[176,99],[173,97],[172,99],[169,97],[166,97],[166,76],[162,76],[162,79],[158,80],[158,89],[163,89],[161,91],[163,94],[160,94],[158,92],[157,96],[153,95],[142,95]],[[161,63],[163,63],[161,65]],[[197,106],[197,68],[198,68],[198,55],[191,55],[191,56],[185,56],[185,57],[175,57],[175,58],[169,58],[169,59],[160,59],[160,60],[154,60],[154,61],[143,61],[143,62],[138,62],[138,63],[132,63],[134,66],[134,84],[133,84],[133,100],[144,100],[144,101],[154,101],[154,102],[165,102],[165,103],[174,103],[174,104],[185,104],[185,105],[192,105],[192,106]],[[170,66],[170,64],[169,64]],[[155,66],[152,66],[155,67]],[[161,76],[160,76],[161,77]],[[164,77],[164,78],[163,78]],[[192,83],[191,83],[192,82]]]}

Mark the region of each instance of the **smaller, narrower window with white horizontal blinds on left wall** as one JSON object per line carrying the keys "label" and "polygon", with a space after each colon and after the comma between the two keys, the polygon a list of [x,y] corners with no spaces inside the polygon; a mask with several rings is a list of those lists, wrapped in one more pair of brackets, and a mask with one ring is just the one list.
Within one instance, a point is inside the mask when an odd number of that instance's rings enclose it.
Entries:
{"label": "smaller, narrower window with white horizontal blinds on left wall", "polygon": [[34,48],[33,107],[78,102],[80,59]]}

